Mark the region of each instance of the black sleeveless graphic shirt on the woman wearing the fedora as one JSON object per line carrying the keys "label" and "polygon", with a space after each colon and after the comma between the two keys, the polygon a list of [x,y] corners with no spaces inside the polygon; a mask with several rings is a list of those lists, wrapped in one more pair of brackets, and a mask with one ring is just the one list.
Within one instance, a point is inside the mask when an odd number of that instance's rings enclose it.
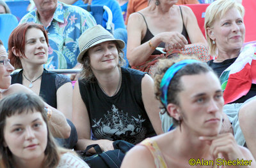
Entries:
{"label": "black sleeveless graphic shirt on the woman wearing the fedora", "polygon": [[123,67],[121,70],[122,85],[113,97],[105,95],[97,82],[84,80],[79,80],[80,94],[90,117],[93,137],[137,144],[156,136],[141,97],[145,73]]}

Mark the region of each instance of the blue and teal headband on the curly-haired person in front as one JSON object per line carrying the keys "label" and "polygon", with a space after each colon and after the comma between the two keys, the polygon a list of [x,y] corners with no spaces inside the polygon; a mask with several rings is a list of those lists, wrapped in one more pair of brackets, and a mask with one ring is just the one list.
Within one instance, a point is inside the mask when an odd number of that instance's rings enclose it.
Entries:
{"label": "blue and teal headband on the curly-haired person in front", "polygon": [[164,106],[166,107],[167,102],[167,95],[168,95],[168,87],[171,83],[171,80],[173,76],[180,70],[182,67],[186,66],[187,64],[193,64],[196,62],[200,62],[198,60],[193,59],[187,59],[187,60],[181,60],[179,62],[176,62],[171,67],[167,69],[167,71],[164,73],[164,76],[162,78],[162,81],[160,83],[160,90],[162,91],[162,94],[160,96],[161,101],[163,102]]}

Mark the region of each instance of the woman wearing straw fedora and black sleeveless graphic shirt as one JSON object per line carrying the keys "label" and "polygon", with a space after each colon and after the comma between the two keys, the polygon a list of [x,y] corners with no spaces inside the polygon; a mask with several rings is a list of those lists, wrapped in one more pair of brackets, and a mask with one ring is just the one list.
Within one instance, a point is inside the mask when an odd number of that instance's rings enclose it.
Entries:
{"label": "woman wearing straw fedora and black sleeveless graphic shirt", "polygon": [[120,67],[122,48],[124,41],[100,25],[79,38],[77,61],[83,69],[74,87],[72,113],[78,150],[95,143],[104,151],[113,150],[113,141],[137,144],[163,132],[154,81],[148,74]]}

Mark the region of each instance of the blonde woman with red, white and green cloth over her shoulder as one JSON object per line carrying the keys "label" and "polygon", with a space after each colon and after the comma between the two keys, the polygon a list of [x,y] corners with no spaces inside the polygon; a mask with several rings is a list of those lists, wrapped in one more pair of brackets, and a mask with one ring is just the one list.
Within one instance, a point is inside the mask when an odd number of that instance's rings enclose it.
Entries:
{"label": "blonde woman with red, white and green cloth over her shoulder", "polygon": [[225,106],[238,144],[248,146],[256,157],[256,45],[243,47],[244,7],[232,0],[218,0],[205,11],[205,32],[209,52],[215,57],[208,65],[221,79]]}

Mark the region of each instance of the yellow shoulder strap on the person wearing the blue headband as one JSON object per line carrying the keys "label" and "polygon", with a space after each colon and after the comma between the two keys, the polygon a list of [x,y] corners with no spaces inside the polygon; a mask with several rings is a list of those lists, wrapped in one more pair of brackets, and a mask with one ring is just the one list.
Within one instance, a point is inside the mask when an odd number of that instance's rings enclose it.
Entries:
{"label": "yellow shoulder strap on the person wearing the blue headband", "polygon": [[167,168],[166,162],[164,161],[164,157],[156,143],[150,138],[145,139],[140,143],[141,145],[148,148],[152,156],[154,157],[154,162],[157,168]]}

